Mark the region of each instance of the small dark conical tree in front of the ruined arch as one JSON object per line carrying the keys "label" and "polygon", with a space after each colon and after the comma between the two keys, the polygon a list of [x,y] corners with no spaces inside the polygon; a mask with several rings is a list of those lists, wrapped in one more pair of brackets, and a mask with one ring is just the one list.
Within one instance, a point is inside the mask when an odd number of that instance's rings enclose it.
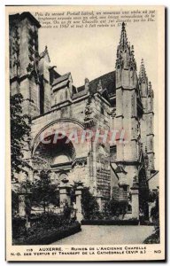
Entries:
{"label": "small dark conical tree in front of the ruined arch", "polygon": [[58,205],[57,186],[51,184],[50,181],[50,171],[42,170],[39,174],[39,179],[35,181],[32,189],[32,206],[43,207],[43,212],[46,212],[46,208],[50,204]]}

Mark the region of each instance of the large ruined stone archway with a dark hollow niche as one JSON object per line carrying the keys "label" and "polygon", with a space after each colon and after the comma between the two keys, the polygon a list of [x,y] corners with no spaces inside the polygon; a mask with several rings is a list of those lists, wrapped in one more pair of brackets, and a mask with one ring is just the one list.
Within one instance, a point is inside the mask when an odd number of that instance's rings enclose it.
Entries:
{"label": "large ruined stone archway with a dark hollow niche", "polygon": [[[35,136],[32,158],[38,156],[46,161],[58,183],[62,172],[65,172],[72,182],[81,177],[84,180],[88,178],[89,143],[80,142],[82,131],[83,126],[77,121],[61,120],[46,125]],[[71,139],[73,132],[77,132],[79,139]],[[78,174],[80,163],[84,177]]]}

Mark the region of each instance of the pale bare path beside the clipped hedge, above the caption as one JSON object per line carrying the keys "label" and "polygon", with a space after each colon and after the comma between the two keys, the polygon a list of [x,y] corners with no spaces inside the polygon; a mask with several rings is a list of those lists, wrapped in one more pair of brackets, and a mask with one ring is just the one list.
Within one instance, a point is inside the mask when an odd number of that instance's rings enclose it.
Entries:
{"label": "pale bare path beside the clipped hedge, above the caption", "polygon": [[81,232],[52,245],[114,245],[142,244],[154,230],[153,226],[82,225]]}

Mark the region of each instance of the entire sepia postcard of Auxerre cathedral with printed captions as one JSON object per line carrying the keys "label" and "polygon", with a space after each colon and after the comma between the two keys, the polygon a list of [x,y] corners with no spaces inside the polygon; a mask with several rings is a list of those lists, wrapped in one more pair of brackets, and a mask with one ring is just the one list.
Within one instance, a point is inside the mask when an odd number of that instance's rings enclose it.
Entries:
{"label": "entire sepia postcard of Auxerre cathedral with printed captions", "polygon": [[164,12],[6,7],[7,260],[164,259]]}

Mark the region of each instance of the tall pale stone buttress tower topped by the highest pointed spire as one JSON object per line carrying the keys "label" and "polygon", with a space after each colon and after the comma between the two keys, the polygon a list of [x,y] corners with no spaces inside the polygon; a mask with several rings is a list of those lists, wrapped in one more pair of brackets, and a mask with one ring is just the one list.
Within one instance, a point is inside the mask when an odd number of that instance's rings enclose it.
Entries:
{"label": "tall pale stone buttress tower topped by the highest pointed spire", "polygon": [[117,139],[116,163],[127,173],[123,187],[131,195],[132,217],[135,218],[139,218],[140,123],[137,101],[139,98],[134,47],[128,43],[125,23],[123,22],[116,59],[116,129],[119,131],[123,129],[125,136],[124,141],[121,141],[120,138]]}

